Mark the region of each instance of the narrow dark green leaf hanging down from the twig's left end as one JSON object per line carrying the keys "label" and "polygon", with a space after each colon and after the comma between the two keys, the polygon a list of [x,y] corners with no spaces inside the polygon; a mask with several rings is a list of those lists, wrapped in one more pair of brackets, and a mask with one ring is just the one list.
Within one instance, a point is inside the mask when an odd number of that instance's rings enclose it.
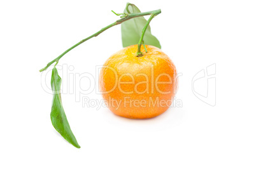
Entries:
{"label": "narrow dark green leaf hanging down from the twig's left end", "polygon": [[67,140],[69,143],[74,145],[76,148],[80,148],[78,145],[74,134],[71,131],[71,128],[68,123],[68,119],[64,112],[62,106],[61,96],[60,96],[60,85],[61,78],[58,75],[57,69],[54,67],[52,70],[52,91],[53,91],[53,101],[52,101],[52,112],[51,120],[53,127]]}

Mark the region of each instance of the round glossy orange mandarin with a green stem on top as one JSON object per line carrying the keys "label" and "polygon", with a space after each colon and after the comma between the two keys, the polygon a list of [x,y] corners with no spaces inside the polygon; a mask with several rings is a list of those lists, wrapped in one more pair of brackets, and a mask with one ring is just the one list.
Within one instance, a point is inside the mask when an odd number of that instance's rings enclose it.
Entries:
{"label": "round glossy orange mandarin with a green stem on top", "polygon": [[128,46],[106,60],[99,75],[99,88],[110,110],[122,117],[147,119],[164,113],[177,88],[176,68],[155,46]]}

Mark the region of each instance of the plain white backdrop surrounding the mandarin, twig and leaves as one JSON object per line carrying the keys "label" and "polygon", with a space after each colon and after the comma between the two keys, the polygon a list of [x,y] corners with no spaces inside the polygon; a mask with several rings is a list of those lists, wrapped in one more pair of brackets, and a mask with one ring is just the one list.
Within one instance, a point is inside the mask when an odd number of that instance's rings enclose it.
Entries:
{"label": "plain white backdrop surrounding the mandarin, twig and leaves", "polygon": [[[255,169],[255,1],[130,1],[161,9],[150,23],[180,77],[183,107],[148,120],[82,107],[63,94],[75,148],[52,126],[50,77],[39,69],[118,19],[127,1],[1,1],[0,169]],[[122,49],[120,25],[73,49],[59,62],[73,74]],[[192,78],[216,63],[216,105],[199,100]],[[49,69],[50,70],[50,69]],[[63,81],[67,81],[63,79]],[[81,81],[89,87],[87,79]],[[197,87],[204,93],[207,83]],[[200,84],[200,83],[197,83]],[[196,84],[195,84],[196,86]],[[90,93],[90,99],[101,95]]]}

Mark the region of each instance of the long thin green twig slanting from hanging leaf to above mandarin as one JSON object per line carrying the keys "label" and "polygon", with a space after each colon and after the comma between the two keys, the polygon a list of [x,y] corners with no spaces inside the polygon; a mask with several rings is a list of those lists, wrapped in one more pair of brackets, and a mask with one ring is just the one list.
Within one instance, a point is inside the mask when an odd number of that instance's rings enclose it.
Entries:
{"label": "long thin green twig slanting from hanging leaf to above mandarin", "polygon": [[[99,34],[101,34],[101,32],[104,32],[105,30],[107,29],[110,29],[111,27],[115,26],[115,25],[118,25],[122,22],[125,22],[127,20],[131,20],[132,18],[136,18],[136,17],[139,17],[139,16],[145,16],[145,15],[158,15],[159,13],[161,13],[161,10],[155,10],[155,11],[148,11],[148,12],[145,12],[145,13],[128,13],[128,14],[125,14],[125,17],[124,18],[121,18],[120,20],[117,20],[116,22],[114,23],[111,23],[110,25],[104,27],[103,29],[99,30],[98,32],[96,32],[95,34],[92,34],[92,36],[90,37],[87,37],[86,39],[83,39],[82,41],[76,43],[74,46],[72,46],[71,48],[67,49],[66,51],[64,51],[64,53],[62,53],[61,55],[59,55],[57,58],[55,58],[54,60],[52,60],[52,62],[49,62],[46,67],[44,67],[43,69],[39,70],[39,72],[43,72],[44,70],[46,70],[48,67],[50,67],[50,65],[52,65],[52,63],[54,62],[59,62],[60,58],[62,58],[62,56],[66,55],[66,53],[68,53],[69,51],[71,51],[71,49],[75,48],[76,46],[79,46],[80,44],[82,44],[83,42],[91,39],[92,37],[96,37],[98,36]],[[152,16],[150,16],[151,18]],[[152,19],[151,19],[152,20]],[[145,33],[144,33],[145,34]],[[144,36],[144,35],[143,35]],[[142,37],[143,38],[143,37]]]}

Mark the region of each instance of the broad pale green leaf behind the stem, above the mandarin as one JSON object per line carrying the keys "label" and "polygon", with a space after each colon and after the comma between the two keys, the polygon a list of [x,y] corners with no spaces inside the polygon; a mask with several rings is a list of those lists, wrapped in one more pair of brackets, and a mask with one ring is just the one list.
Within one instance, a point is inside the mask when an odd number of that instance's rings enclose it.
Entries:
{"label": "broad pale green leaf behind the stem, above the mandarin", "polygon": [[[130,4],[128,9],[131,13],[141,13],[139,8],[134,4]],[[128,13],[127,10],[124,10],[124,13]],[[121,24],[122,28],[122,42],[123,47],[131,46],[138,44],[139,38],[141,37],[141,32],[146,24],[146,19],[143,16],[132,18]],[[150,25],[146,28],[145,36],[143,38],[145,44],[156,46],[161,48],[160,42],[155,36],[151,34]]]}

